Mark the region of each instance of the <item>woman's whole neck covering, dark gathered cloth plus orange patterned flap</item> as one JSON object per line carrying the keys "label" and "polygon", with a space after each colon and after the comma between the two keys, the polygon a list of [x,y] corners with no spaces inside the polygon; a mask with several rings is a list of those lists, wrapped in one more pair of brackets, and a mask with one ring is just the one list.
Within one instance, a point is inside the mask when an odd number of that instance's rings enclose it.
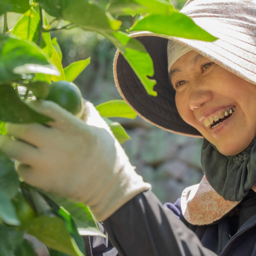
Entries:
{"label": "woman's whole neck covering, dark gathered cloth plus orange patterned flap", "polygon": [[252,189],[256,192],[256,137],[241,153],[224,156],[203,139],[199,184],[181,195],[181,211],[193,225],[208,225],[227,215]]}

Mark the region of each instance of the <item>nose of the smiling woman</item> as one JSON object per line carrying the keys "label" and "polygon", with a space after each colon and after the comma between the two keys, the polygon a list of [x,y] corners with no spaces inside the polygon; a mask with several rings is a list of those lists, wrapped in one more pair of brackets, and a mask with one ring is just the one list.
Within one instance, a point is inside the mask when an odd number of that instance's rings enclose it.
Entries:
{"label": "nose of the smiling woman", "polygon": [[189,95],[189,108],[191,110],[196,110],[201,108],[206,102],[212,99],[212,92],[203,88],[193,88],[190,89]]}

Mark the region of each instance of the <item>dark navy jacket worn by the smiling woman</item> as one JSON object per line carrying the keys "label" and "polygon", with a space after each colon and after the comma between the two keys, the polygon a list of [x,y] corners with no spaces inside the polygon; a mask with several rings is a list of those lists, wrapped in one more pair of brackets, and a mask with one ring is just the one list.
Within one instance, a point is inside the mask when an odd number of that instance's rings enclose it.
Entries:
{"label": "dark navy jacket worn by the smiling woman", "polygon": [[[248,194],[244,206],[254,202],[253,195]],[[87,256],[256,256],[256,215],[238,229],[238,212],[234,209],[215,224],[195,226],[182,216],[180,199],[162,206],[146,191],[104,221],[105,230],[99,223],[108,238],[84,237]]]}

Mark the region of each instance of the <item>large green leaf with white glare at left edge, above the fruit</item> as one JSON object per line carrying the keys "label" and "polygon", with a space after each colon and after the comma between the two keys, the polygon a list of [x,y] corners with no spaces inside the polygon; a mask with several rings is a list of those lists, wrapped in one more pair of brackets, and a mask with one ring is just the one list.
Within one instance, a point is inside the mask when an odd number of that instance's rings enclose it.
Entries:
{"label": "large green leaf with white glare at left edge, above the fruit", "polygon": [[1,48],[0,84],[21,79],[23,74],[59,74],[34,42],[0,35],[0,50]]}

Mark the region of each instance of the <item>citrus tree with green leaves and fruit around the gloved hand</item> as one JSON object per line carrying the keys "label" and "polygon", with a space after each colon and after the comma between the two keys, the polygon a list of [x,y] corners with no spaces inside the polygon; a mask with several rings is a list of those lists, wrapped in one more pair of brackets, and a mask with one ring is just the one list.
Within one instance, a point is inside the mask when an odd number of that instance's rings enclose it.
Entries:
{"label": "citrus tree with green leaves and fruit around the gloved hand", "polygon": [[[21,14],[13,28],[8,27],[8,12]],[[61,50],[51,31],[78,27],[108,38],[153,96],[156,82],[148,78],[154,74],[152,60],[143,45],[129,36],[131,32],[216,39],[177,12],[168,0],[0,0],[0,16],[4,20],[0,35],[0,134],[6,134],[5,122],[44,124],[51,120],[31,109],[27,100],[52,100],[81,116],[83,99],[73,81],[90,58],[63,68]],[[123,27],[120,16],[133,16],[133,26]],[[120,143],[130,139],[119,123],[108,119],[136,117],[124,101],[103,102],[96,109]],[[2,152],[0,222],[0,256],[35,255],[26,233],[45,243],[51,256],[84,255],[81,235],[104,236],[86,205],[26,184],[16,174],[13,160]]]}

